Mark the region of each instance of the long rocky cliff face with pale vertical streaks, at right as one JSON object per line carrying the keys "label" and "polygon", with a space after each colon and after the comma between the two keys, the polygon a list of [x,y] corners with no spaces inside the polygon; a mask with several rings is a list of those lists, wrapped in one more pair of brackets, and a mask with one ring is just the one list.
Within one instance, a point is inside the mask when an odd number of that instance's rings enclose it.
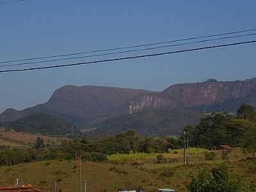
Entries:
{"label": "long rocky cliff face with pale vertical streaks, at right", "polygon": [[207,106],[228,99],[240,99],[255,92],[256,79],[174,84],[163,92],[148,93],[132,99],[129,113],[153,108]]}

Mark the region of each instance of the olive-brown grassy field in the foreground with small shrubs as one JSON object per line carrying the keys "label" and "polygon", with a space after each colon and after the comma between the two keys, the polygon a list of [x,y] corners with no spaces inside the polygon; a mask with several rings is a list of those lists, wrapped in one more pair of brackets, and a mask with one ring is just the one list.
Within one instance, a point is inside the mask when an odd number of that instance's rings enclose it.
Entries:
{"label": "olive-brown grassy field in the foreground with small shrubs", "polygon": [[[248,183],[256,184],[255,159],[246,159],[242,150],[234,150],[223,160],[221,151],[215,151],[212,161],[205,161],[203,153],[188,154],[188,165],[184,166],[182,154],[164,154],[166,163],[157,164],[156,159],[147,159],[132,164],[83,162],[83,179],[87,179],[88,191],[116,191],[124,186],[138,186],[147,191],[173,188],[187,191],[189,175],[198,170],[225,164],[230,173],[236,173]],[[0,185],[33,184],[43,191],[54,191],[54,182],[63,191],[79,191],[79,172],[76,161],[42,161],[0,168]]]}

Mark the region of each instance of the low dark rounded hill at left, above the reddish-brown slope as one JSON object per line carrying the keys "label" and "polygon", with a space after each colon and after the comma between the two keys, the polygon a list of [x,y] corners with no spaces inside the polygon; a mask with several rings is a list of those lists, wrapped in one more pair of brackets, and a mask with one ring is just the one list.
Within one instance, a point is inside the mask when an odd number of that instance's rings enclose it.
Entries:
{"label": "low dark rounded hill at left, above the reddish-brown slope", "polygon": [[65,120],[44,113],[22,117],[15,122],[1,123],[0,126],[14,129],[17,132],[41,133],[46,135],[64,136],[71,134],[72,131],[74,134],[79,133],[76,127],[68,124]]}

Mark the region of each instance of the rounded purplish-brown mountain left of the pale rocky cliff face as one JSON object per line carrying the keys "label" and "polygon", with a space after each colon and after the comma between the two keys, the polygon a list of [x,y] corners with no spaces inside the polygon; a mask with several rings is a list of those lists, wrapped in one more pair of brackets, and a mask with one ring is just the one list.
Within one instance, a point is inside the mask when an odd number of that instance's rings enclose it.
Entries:
{"label": "rounded purplish-brown mountain left of the pale rocky cliff face", "polygon": [[98,116],[128,113],[127,101],[143,93],[148,91],[104,86],[63,86],[45,104],[22,111],[7,109],[0,115],[0,122],[13,122],[35,113],[47,113],[83,127]]}

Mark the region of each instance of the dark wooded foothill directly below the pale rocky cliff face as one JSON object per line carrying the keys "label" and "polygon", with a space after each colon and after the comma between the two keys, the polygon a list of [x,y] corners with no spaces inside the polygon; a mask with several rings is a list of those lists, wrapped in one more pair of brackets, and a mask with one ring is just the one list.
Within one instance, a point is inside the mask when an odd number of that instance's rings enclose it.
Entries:
{"label": "dark wooded foothill directly below the pale rocky cliff face", "polygon": [[184,126],[198,124],[204,116],[190,109],[154,109],[104,120],[87,134],[119,134],[132,129],[148,136],[177,135]]}

